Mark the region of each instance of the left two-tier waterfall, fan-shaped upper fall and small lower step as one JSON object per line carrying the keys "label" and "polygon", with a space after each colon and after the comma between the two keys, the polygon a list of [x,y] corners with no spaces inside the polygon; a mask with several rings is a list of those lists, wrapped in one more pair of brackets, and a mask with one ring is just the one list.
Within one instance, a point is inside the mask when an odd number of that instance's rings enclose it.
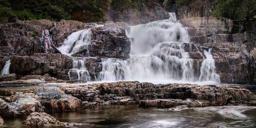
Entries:
{"label": "left two-tier waterfall, fan-shaped upper fall and small lower step", "polygon": [[[102,27],[104,25],[93,24],[92,27]],[[77,32],[74,32],[68,36],[64,41],[63,45],[59,47],[59,51],[63,54],[72,55],[77,52],[85,52],[85,56],[90,56],[89,54],[89,45],[91,44],[91,29],[84,29]],[[69,80],[81,80],[81,81],[90,81],[91,77],[88,70],[86,69],[86,59],[83,60],[72,58],[73,59],[73,69],[70,69],[68,72]]]}

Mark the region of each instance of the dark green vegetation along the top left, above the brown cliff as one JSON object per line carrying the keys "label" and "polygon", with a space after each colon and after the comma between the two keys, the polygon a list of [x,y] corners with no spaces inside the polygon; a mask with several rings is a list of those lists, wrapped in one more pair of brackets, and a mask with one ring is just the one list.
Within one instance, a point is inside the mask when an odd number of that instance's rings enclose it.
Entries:
{"label": "dark green vegetation along the top left, above the brown cliff", "polygon": [[[104,21],[105,11],[126,7],[139,9],[141,0],[0,0],[0,23],[9,18],[20,20],[77,19],[86,17],[91,22]],[[82,19],[81,19],[82,20]]]}

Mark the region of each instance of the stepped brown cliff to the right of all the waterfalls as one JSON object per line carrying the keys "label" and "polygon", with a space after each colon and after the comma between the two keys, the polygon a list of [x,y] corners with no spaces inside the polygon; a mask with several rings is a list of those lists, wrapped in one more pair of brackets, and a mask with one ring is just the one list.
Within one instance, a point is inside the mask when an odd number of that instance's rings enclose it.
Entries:
{"label": "stepped brown cliff to the right of all the waterfalls", "polygon": [[201,49],[212,48],[216,71],[225,83],[250,83],[255,79],[255,33],[230,34],[232,20],[188,18],[181,20],[188,27],[191,42]]}

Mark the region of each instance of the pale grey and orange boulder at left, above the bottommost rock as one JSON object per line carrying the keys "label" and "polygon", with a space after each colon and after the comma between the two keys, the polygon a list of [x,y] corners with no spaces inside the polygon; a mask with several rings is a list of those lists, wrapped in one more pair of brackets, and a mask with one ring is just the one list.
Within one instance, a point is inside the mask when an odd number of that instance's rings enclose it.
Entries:
{"label": "pale grey and orange boulder at left, above the bottommost rock", "polygon": [[8,105],[15,115],[29,115],[33,112],[44,111],[44,106],[41,105],[40,99],[34,94],[20,94],[15,102]]}

